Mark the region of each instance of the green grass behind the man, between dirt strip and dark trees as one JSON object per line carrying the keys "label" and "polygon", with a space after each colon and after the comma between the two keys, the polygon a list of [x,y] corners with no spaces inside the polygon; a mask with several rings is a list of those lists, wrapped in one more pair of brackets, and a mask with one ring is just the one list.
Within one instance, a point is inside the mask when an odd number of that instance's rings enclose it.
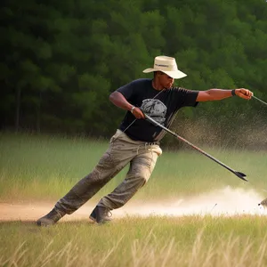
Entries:
{"label": "green grass behind the man, between dirt strip and dark trees", "polygon": [[[0,134],[0,198],[51,199],[61,197],[90,173],[108,148],[108,141],[85,138]],[[264,151],[204,148],[232,168],[247,174],[258,188],[267,184]],[[121,182],[127,167],[97,195]],[[247,186],[234,174],[193,150],[165,150],[149,183],[135,198],[187,196],[231,185]]]}

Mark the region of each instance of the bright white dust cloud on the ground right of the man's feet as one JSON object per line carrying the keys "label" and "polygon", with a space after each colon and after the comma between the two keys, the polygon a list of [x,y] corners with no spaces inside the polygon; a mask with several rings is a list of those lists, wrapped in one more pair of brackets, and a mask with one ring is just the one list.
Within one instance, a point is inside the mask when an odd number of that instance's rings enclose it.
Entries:
{"label": "bright white dust cloud on the ground right of the man's feet", "polygon": [[267,196],[255,190],[232,189],[225,187],[222,190],[199,194],[190,198],[177,198],[160,203],[142,203],[134,211],[129,208],[128,214],[138,215],[237,215],[237,214],[267,214],[267,209],[258,204]]}

